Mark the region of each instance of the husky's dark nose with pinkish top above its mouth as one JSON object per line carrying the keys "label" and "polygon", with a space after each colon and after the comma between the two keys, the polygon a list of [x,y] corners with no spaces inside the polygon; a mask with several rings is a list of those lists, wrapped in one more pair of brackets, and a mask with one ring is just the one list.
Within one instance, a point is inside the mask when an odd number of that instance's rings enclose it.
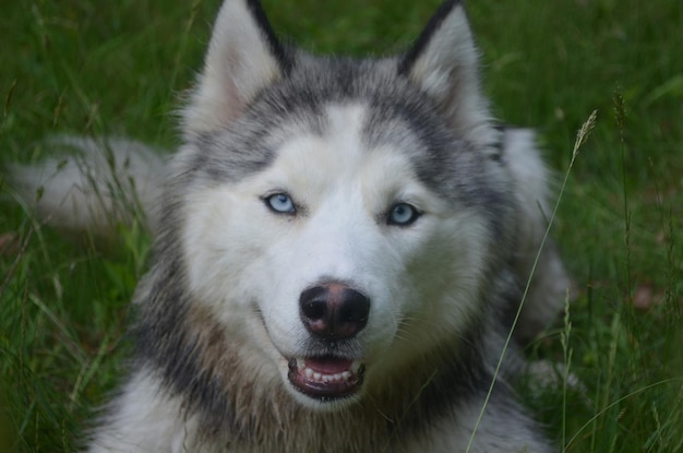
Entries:
{"label": "husky's dark nose with pinkish top above its mouth", "polygon": [[368,324],[370,299],[338,283],[315,286],[301,293],[299,314],[316,336],[350,338]]}

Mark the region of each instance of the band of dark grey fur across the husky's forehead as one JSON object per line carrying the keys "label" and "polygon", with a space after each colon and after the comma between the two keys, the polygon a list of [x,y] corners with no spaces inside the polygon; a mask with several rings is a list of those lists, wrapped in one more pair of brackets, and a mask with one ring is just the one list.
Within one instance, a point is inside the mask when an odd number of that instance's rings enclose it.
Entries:
{"label": "band of dark grey fur across the husky's forehead", "polygon": [[[362,115],[331,115],[335,107],[352,105],[363,106]],[[349,140],[360,140],[366,151],[399,153],[443,198],[458,204],[500,201],[487,181],[491,163],[456,134],[428,95],[397,73],[392,59],[300,56],[286,79],[264,90],[225,130],[192,139],[200,153],[193,165],[216,182],[237,182],[266,170],[288,142],[311,134],[324,139],[345,123],[356,127]]]}

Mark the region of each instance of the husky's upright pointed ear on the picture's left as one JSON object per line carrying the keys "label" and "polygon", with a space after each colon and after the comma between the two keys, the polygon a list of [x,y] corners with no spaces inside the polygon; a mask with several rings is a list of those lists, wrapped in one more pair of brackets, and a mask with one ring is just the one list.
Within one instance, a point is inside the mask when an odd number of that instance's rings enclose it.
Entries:
{"label": "husky's upright pointed ear on the picture's left", "polygon": [[291,59],[257,0],[225,0],[204,70],[182,110],[184,133],[225,128],[257,93],[283,78]]}

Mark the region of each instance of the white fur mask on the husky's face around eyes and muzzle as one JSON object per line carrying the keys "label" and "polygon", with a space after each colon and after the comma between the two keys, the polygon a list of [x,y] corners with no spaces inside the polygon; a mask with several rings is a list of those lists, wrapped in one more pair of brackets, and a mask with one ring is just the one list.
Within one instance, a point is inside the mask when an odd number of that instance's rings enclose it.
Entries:
{"label": "white fur mask on the husky's face around eyes and muzzle", "polygon": [[[371,299],[368,325],[357,336],[371,380],[464,329],[484,266],[483,222],[421,184],[407,150],[368,150],[362,106],[326,114],[322,136],[289,140],[265,171],[192,195],[184,216],[189,283],[226,329],[269,355],[285,379],[287,359],[304,354],[309,335],[300,294],[324,282],[351,286]],[[288,194],[297,213],[271,211],[264,198],[275,193]],[[407,227],[387,225],[397,202],[422,216]]]}

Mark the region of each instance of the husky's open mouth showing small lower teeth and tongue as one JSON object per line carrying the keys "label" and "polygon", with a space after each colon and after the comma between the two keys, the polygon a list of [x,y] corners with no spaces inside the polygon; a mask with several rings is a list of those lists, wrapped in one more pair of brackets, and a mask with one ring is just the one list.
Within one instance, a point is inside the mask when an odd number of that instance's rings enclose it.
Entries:
{"label": "husky's open mouth showing small lower teeth and tongue", "polygon": [[358,392],[363,382],[364,365],[334,356],[292,358],[289,382],[299,392],[320,401],[332,401]]}

